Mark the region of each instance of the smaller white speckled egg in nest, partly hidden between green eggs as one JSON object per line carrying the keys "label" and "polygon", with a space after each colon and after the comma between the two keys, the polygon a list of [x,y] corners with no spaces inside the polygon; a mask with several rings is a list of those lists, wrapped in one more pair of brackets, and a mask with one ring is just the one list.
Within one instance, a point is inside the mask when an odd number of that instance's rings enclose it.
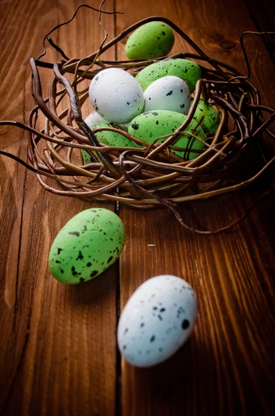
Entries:
{"label": "smaller white speckled egg in nest, partly hidden between green eggs", "polygon": [[170,110],[187,114],[190,108],[190,91],[187,83],[178,76],[164,76],[153,81],[144,91],[144,112]]}

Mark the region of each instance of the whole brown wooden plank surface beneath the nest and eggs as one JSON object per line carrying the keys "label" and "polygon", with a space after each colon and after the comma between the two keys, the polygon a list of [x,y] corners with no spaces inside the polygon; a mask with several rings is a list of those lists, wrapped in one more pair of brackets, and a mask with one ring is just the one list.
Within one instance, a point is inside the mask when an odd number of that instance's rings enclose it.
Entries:
{"label": "whole brown wooden plank surface beneath the nest and eggs", "polygon": [[[45,33],[68,19],[79,3],[0,1],[2,120],[26,121],[32,107],[28,60],[41,52]],[[88,4],[98,7],[99,1]],[[206,53],[245,72],[241,33],[274,30],[272,2],[264,1],[263,7],[268,14],[254,0],[113,0],[104,10],[124,15],[102,21],[111,38],[149,15],[168,17]],[[95,50],[101,36],[96,14],[81,10],[54,39],[68,55],[80,57]],[[249,36],[245,45],[263,103],[275,107],[270,39]],[[186,50],[177,38],[173,52]],[[123,59],[124,45],[107,56]],[[48,60],[58,58],[49,47]],[[42,79],[46,96],[46,71]],[[26,159],[26,142],[21,130],[0,128],[1,149]],[[126,245],[119,263],[88,284],[70,287],[48,272],[50,244],[69,218],[99,204],[47,193],[33,173],[6,157],[0,157],[0,172],[1,416],[273,414],[274,197],[217,236],[193,236],[164,209],[120,207]],[[200,228],[226,225],[274,186],[272,175],[270,168],[238,195],[185,204],[182,215]],[[176,356],[138,370],[117,354],[117,318],[133,291],[160,273],[178,275],[193,286],[198,323]]]}

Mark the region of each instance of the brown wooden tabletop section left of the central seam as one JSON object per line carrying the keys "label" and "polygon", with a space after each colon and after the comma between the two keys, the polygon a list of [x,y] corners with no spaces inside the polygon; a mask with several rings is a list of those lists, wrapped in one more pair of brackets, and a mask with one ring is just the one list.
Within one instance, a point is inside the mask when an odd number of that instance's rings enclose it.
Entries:
{"label": "brown wooden tabletop section left of the central seam", "polygon": [[[69,19],[78,4],[6,3],[0,26],[1,119],[28,119],[33,105],[28,60],[41,53],[46,32]],[[113,35],[114,17],[103,15],[102,22]],[[102,36],[97,13],[86,9],[53,40],[68,56],[81,57],[96,50]],[[47,60],[56,62],[60,55],[50,49]],[[113,59],[114,51],[106,56]],[[48,72],[41,70],[44,96],[52,77]],[[84,116],[89,110],[86,106]],[[26,159],[26,135],[1,128],[1,148]],[[50,276],[47,261],[53,239],[72,216],[114,205],[54,196],[25,171],[1,157],[0,413],[113,415],[116,266],[72,287]]]}

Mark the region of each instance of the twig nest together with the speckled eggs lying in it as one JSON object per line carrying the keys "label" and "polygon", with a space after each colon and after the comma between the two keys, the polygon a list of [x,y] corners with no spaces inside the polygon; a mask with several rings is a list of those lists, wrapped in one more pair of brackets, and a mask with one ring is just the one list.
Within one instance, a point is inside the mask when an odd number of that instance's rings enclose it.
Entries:
{"label": "twig nest together with the speckled eggs lying in it", "polygon": [[[195,53],[183,51],[155,60],[111,62],[102,59],[102,53],[152,21],[171,26]],[[163,39],[166,35],[162,35]],[[35,171],[39,183],[48,191],[61,196],[117,200],[142,209],[162,205],[173,211],[181,225],[191,229],[183,223],[176,204],[243,189],[271,163],[265,163],[263,168],[264,162],[257,160],[255,163],[250,157],[254,147],[258,150],[263,131],[273,137],[267,128],[274,121],[274,110],[260,105],[258,89],[247,77],[234,67],[207,56],[169,19],[144,19],[80,60],[68,59],[63,51],[57,50],[64,60],[56,64],[42,62],[40,58],[44,54],[37,60],[30,60],[37,105],[30,112],[28,126],[13,122],[29,131],[31,166],[28,167]],[[39,66],[53,68],[48,98],[41,96]],[[73,85],[67,73],[75,73]],[[187,103],[193,93],[188,113],[172,112],[171,107],[170,110],[155,108],[144,112],[146,89],[169,76],[187,84]],[[81,107],[88,92],[80,86],[85,79],[92,80],[89,93],[95,110],[86,123]],[[63,90],[57,90],[58,83],[63,85]],[[171,90],[165,92],[165,97],[169,98]],[[69,98],[70,105],[61,111],[59,103],[65,97]],[[160,101],[155,98],[158,106]],[[186,106],[188,104],[184,103]],[[43,130],[36,128],[40,112],[45,117]],[[266,118],[263,112],[269,116]],[[98,121],[108,121],[107,125],[116,123],[115,128],[121,129],[107,136],[106,129],[110,127],[104,124],[104,133],[98,132],[95,130]],[[26,166],[26,162],[15,155],[1,150],[0,153]],[[84,161],[79,157],[81,154]],[[252,171],[258,173],[252,177]]]}

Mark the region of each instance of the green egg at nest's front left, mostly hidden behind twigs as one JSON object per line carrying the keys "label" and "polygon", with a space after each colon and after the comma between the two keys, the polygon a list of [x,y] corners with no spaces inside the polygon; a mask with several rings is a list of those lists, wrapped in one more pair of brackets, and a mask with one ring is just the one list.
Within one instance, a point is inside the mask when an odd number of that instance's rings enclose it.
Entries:
{"label": "green egg at nest's front left, mostly hidden behind twigs", "polygon": [[[113,127],[113,125],[109,123],[97,123],[93,125],[93,129],[103,127]],[[120,133],[111,132],[108,130],[97,132],[95,136],[97,137],[97,140],[100,141],[100,143],[106,144],[106,146],[140,147],[134,141],[131,141],[123,135],[120,135]],[[81,150],[81,153],[84,163],[90,164],[94,162],[93,158],[86,152],[86,150]]]}

